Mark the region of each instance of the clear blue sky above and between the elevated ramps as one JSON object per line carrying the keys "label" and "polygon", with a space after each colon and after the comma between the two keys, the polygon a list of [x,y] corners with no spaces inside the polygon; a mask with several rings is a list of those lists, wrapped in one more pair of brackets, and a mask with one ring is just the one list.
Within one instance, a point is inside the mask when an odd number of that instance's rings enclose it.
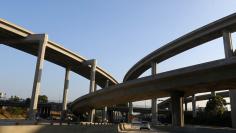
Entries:
{"label": "clear blue sky above and between the elevated ramps", "polygon": [[[234,13],[235,7],[233,0],[5,0],[0,17],[34,33],[47,33],[50,40],[87,59],[96,58],[122,82],[148,53]],[[219,58],[224,58],[222,38],[160,63],[158,72]],[[30,97],[36,57],[0,45],[0,60],[0,91]],[[64,68],[45,62],[41,93],[61,100],[64,73]],[[70,101],[88,93],[89,81],[83,77],[72,73],[70,83]]]}

